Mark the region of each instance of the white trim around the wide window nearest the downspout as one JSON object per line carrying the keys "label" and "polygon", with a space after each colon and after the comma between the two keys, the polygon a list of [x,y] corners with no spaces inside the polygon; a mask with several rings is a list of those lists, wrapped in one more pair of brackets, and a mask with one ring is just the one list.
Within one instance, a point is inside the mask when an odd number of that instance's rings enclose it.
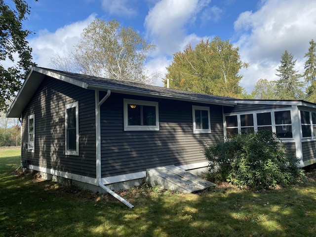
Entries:
{"label": "white trim around the wide window nearest the downspout", "polygon": [[[159,131],[159,109],[158,102],[145,100],[124,99],[124,131]],[[128,125],[128,104],[155,106],[156,108],[156,125]]]}

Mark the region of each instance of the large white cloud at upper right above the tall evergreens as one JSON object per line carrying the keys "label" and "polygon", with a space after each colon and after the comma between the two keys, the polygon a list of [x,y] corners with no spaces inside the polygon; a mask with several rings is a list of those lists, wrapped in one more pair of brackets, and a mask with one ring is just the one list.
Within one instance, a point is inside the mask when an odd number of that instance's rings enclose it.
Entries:
{"label": "large white cloud at upper right above the tall evergreens", "polygon": [[250,64],[240,72],[248,92],[258,79],[278,79],[276,68],[285,50],[297,59],[296,70],[304,70],[309,41],[316,39],[315,12],[315,0],[264,0],[258,11],[239,15],[234,28],[241,60]]}

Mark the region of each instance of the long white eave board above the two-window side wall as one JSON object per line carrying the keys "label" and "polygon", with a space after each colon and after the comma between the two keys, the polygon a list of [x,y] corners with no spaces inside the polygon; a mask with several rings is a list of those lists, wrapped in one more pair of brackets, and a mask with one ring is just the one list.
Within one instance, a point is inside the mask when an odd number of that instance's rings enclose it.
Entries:
{"label": "long white eave board above the two-window side wall", "polygon": [[220,101],[220,100],[216,100],[216,99],[215,100],[203,100],[203,99],[195,99],[195,98],[185,98],[185,97],[161,94],[161,93],[157,93],[157,92],[147,92],[147,91],[139,91],[139,90],[133,90],[133,89],[121,89],[121,88],[117,88],[117,87],[102,86],[102,85],[95,85],[95,84],[89,84],[87,86],[87,89],[111,90],[112,92],[117,92],[117,93],[121,93],[121,94],[140,95],[140,96],[148,96],[148,97],[155,97],[155,98],[166,98],[166,99],[170,99],[170,100],[189,101],[189,102],[211,104],[211,105],[224,105],[224,106],[231,106],[231,107],[234,107],[237,105],[237,103],[231,102],[231,101]]}

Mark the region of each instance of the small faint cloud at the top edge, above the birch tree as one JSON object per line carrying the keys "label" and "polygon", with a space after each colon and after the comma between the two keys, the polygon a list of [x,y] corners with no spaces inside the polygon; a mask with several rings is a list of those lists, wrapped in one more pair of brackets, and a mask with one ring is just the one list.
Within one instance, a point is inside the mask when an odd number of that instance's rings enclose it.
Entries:
{"label": "small faint cloud at the top edge, above the birch tree", "polygon": [[132,6],[134,2],[134,0],[102,0],[102,7],[112,15],[135,16],[137,8]]}

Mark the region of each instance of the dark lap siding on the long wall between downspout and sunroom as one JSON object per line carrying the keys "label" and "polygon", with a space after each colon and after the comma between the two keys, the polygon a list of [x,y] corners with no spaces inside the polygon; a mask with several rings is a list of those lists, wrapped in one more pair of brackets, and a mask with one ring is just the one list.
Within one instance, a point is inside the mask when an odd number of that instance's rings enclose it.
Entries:
{"label": "dark lap siding on the long wall between downspout and sunroom", "polygon": [[[123,98],[157,101],[159,131],[124,131]],[[101,107],[102,176],[206,161],[206,143],[223,140],[221,106],[210,106],[211,134],[193,134],[192,104],[111,94]]]}

